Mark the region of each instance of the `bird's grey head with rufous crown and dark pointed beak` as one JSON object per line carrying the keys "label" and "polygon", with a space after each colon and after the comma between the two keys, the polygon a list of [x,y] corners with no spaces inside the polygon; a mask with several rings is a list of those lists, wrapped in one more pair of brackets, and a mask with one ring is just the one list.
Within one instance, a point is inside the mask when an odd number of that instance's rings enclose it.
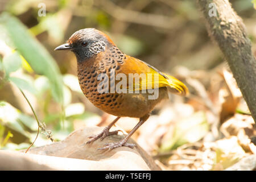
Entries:
{"label": "bird's grey head with rufous crown and dark pointed beak", "polygon": [[106,46],[114,45],[108,35],[95,28],[84,28],[76,31],[68,42],[55,48],[57,50],[71,50],[75,53],[77,61],[83,61],[104,52]]}

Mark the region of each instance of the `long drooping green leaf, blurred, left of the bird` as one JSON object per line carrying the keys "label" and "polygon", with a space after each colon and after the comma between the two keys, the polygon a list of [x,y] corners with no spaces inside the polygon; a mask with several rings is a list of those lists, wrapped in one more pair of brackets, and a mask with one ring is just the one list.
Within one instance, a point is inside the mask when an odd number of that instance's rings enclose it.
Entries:
{"label": "long drooping green leaf, blurred, left of the bird", "polygon": [[63,81],[55,60],[47,49],[36,40],[19,19],[8,13],[2,13],[0,24],[3,24],[9,32],[15,47],[39,75],[48,77],[51,84],[53,98],[63,103]]}

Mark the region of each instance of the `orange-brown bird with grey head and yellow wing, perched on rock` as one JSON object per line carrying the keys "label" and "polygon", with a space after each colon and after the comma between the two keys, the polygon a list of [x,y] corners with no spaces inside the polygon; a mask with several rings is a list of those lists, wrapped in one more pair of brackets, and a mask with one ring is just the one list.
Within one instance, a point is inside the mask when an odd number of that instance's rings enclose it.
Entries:
{"label": "orange-brown bird with grey head and yellow wing, perched on rock", "polygon": [[[100,133],[90,136],[86,144],[118,134],[119,130],[110,131],[110,128],[121,117],[139,118],[137,125],[125,138],[119,142],[106,143],[98,150],[113,150],[123,146],[133,148],[135,144],[127,143],[128,139],[147,121],[155,105],[169,98],[168,92],[180,96],[187,96],[189,93],[183,82],[160,72],[142,60],[126,55],[108,35],[96,28],[84,28],[76,31],[67,43],[55,48],[55,51],[59,50],[69,50],[75,54],[80,88],[88,100],[99,109],[117,117]],[[105,86],[107,88],[104,91],[109,91],[113,85],[118,83],[118,80],[112,81],[114,75],[129,78],[130,74],[142,74],[144,77],[139,78],[139,81],[137,80],[133,84],[124,82],[120,86],[123,92],[120,92],[120,89],[114,90],[114,92],[102,92],[102,89],[99,89],[104,85],[102,88]],[[148,76],[150,74],[157,77],[150,80],[150,76]],[[106,75],[105,83],[98,79],[100,75]],[[134,81],[135,78],[131,78],[131,80]],[[158,91],[158,94],[152,99],[150,96],[154,94],[152,91],[155,90]]]}

